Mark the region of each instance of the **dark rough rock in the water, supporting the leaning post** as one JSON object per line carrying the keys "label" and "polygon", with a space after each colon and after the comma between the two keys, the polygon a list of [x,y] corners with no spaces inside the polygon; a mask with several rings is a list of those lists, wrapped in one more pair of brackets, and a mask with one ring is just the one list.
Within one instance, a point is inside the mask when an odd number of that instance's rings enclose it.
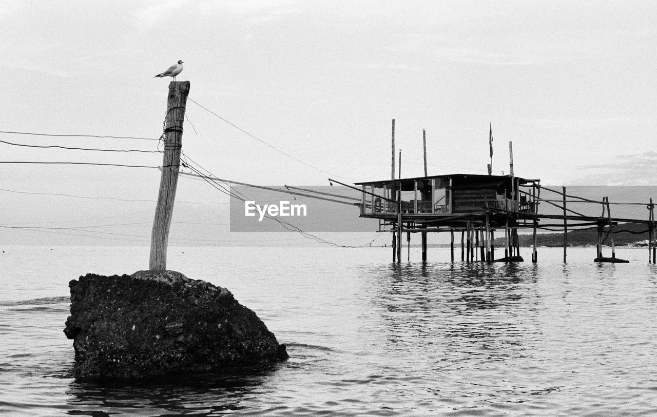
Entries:
{"label": "dark rough rock in the water, supporting the leaning post", "polygon": [[285,345],[226,288],[175,271],[72,280],[74,376],[135,379],[288,359]]}

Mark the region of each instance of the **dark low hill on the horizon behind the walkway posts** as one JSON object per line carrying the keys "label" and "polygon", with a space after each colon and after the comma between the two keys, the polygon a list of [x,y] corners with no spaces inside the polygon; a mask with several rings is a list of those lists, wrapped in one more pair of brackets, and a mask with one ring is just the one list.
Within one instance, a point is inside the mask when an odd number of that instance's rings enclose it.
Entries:
{"label": "dark low hill on the horizon behind the walkway posts", "polygon": [[[610,244],[610,236],[608,236],[608,227],[604,228],[602,239],[605,245]],[[520,246],[532,246],[533,237],[531,234],[520,234]],[[648,240],[648,225],[641,223],[620,223],[614,226],[614,244],[618,246],[633,245],[643,246],[644,240]],[[568,246],[587,246],[597,245],[598,232],[596,229],[587,230],[572,230],[568,232]],[[538,246],[563,246],[564,234],[555,233],[539,233],[536,235],[536,244]],[[504,238],[496,238],[495,246],[504,246]]]}

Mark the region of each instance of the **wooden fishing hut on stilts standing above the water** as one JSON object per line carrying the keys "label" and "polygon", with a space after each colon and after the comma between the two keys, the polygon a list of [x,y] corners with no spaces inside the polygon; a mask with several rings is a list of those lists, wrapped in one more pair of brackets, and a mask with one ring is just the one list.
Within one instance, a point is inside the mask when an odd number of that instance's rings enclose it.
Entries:
{"label": "wooden fishing hut on stilts standing above the water", "polygon": [[426,234],[461,232],[461,260],[494,259],[495,230],[505,231],[505,259],[517,259],[517,229],[535,213],[535,198],[522,195],[520,187],[539,180],[510,175],[449,174],[355,183],[361,188],[360,217],[378,219],[379,230],[392,232],[393,261],[401,260],[403,233],[422,236],[426,261]]}

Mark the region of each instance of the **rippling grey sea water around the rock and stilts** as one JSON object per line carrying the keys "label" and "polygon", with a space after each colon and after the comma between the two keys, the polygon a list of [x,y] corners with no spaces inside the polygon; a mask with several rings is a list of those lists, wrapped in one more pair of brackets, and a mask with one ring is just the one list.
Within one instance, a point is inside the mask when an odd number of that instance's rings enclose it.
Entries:
{"label": "rippling grey sea water around the rock and stilts", "polygon": [[657,415],[646,248],[486,265],[442,248],[394,264],[391,248],[170,247],[168,269],[228,288],[290,359],[121,384],[72,378],[68,282],[147,269],[148,248],[1,250],[0,416]]}

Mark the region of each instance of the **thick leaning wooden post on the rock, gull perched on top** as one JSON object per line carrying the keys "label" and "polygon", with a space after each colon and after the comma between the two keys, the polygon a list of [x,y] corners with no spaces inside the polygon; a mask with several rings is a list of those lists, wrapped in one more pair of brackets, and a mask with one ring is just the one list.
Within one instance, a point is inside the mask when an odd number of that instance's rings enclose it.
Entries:
{"label": "thick leaning wooden post on the rock, gull perched on top", "polygon": [[189,95],[189,81],[171,81],[164,120],[164,158],[160,192],[150,237],[151,271],[166,270],[166,252],[169,244],[169,227],[173,215],[175,190],[178,185],[180,152],[183,144],[183,121]]}

